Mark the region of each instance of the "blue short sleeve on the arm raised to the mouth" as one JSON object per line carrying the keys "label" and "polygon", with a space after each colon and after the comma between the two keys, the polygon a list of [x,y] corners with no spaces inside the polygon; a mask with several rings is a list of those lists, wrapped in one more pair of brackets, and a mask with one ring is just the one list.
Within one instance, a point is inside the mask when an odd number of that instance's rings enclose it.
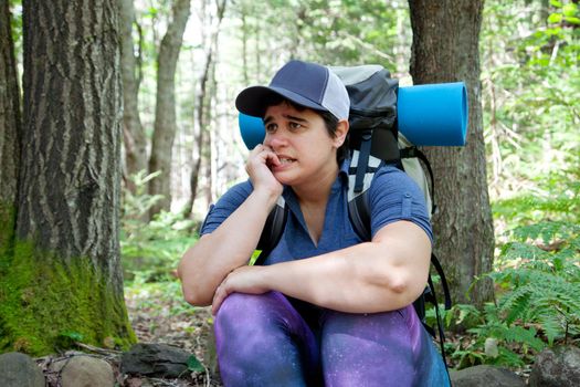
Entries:
{"label": "blue short sleeve on the arm raised to the mouth", "polygon": [[252,190],[253,187],[250,180],[230,188],[215,205],[210,206],[210,210],[201,224],[200,236],[211,233],[220,227],[247,199]]}

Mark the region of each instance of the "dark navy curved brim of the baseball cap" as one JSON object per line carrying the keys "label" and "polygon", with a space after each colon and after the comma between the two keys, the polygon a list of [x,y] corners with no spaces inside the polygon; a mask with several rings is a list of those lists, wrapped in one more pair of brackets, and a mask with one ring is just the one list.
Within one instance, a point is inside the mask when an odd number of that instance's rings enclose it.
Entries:
{"label": "dark navy curved brim of the baseball cap", "polygon": [[300,106],[309,107],[315,111],[328,112],[324,106],[303,97],[299,94],[282,87],[252,86],[243,90],[235,98],[235,107],[247,115],[264,117],[267,106],[265,105],[268,96],[280,95]]}

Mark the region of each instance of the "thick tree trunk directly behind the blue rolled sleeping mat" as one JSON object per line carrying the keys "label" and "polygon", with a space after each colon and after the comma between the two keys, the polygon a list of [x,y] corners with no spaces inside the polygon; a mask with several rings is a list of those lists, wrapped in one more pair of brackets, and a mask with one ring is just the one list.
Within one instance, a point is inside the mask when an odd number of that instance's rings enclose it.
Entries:
{"label": "thick tree trunk directly behind the blue rolled sleeping mat", "polygon": [[[493,265],[494,233],[487,192],[479,82],[483,0],[409,0],[414,84],[465,81],[470,125],[465,147],[426,149],[435,175],[435,252],[443,260],[453,301],[467,302],[471,283]],[[471,293],[493,299],[491,281]]]}

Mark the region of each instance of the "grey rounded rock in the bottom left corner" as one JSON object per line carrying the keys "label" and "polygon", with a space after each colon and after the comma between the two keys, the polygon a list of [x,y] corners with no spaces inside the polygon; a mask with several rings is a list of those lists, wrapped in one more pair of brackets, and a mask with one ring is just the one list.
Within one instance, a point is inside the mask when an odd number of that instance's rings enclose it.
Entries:
{"label": "grey rounded rock in the bottom left corner", "polygon": [[11,352],[0,355],[0,386],[44,387],[44,375],[32,357]]}

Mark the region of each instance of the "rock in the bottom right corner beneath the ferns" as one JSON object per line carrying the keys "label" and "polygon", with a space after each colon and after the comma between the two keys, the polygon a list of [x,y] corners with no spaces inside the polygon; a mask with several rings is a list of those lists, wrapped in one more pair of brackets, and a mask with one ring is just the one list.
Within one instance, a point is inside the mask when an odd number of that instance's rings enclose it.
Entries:
{"label": "rock in the bottom right corner beneath the ferns", "polygon": [[580,386],[580,348],[568,346],[545,348],[536,356],[530,387]]}

